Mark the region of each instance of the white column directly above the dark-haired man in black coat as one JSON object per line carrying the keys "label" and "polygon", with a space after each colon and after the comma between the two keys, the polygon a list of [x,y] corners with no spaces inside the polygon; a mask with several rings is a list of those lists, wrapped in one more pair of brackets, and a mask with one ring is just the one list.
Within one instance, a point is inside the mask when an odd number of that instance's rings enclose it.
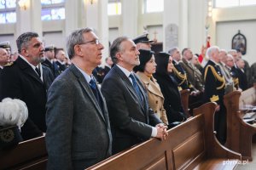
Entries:
{"label": "white column directly above the dark-haired man in black coat", "polygon": [[41,21],[41,1],[27,0],[26,8],[20,8],[17,3],[16,7],[17,22],[15,37],[26,31],[35,31],[42,37],[42,21]]}

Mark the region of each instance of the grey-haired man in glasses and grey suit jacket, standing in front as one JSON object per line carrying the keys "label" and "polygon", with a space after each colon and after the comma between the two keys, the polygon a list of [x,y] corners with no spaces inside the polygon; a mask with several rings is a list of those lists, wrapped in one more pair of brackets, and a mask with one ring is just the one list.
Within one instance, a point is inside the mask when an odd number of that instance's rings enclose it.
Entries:
{"label": "grey-haired man in glasses and grey suit jacket, standing in front", "polygon": [[111,155],[107,106],[92,76],[102,49],[90,28],[67,37],[73,64],[50,86],[46,105],[48,169],[84,169]]}

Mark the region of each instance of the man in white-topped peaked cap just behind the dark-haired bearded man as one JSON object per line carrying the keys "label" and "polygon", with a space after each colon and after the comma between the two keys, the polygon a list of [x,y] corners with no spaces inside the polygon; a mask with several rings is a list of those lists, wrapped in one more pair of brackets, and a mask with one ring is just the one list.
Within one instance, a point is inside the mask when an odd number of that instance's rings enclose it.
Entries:
{"label": "man in white-topped peaked cap just behind the dark-haired bearded man", "polygon": [[49,45],[45,47],[44,50],[44,56],[45,60],[42,63],[43,65],[49,67],[50,71],[54,75],[54,77],[59,76],[59,68],[58,65],[56,65],[54,59],[55,59],[55,46]]}

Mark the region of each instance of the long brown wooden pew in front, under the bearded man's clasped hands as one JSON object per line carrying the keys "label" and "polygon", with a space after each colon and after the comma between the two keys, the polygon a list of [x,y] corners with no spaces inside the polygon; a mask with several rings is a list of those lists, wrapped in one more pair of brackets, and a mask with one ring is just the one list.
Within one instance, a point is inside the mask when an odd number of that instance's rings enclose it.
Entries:
{"label": "long brown wooden pew in front, under the bearded man's clasped hands", "polygon": [[166,140],[149,139],[88,169],[233,169],[241,155],[218,143],[215,108],[214,103],[202,105],[195,110],[197,116],[170,129]]}

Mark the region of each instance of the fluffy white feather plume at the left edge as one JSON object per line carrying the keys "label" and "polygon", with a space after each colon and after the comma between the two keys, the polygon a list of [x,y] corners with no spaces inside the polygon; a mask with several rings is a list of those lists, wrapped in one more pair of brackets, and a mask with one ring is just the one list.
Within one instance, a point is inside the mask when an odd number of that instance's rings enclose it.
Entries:
{"label": "fluffy white feather plume at the left edge", "polygon": [[5,98],[0,102],[0,126],[22,127],[28,117],[26,104],[20,99]]}

